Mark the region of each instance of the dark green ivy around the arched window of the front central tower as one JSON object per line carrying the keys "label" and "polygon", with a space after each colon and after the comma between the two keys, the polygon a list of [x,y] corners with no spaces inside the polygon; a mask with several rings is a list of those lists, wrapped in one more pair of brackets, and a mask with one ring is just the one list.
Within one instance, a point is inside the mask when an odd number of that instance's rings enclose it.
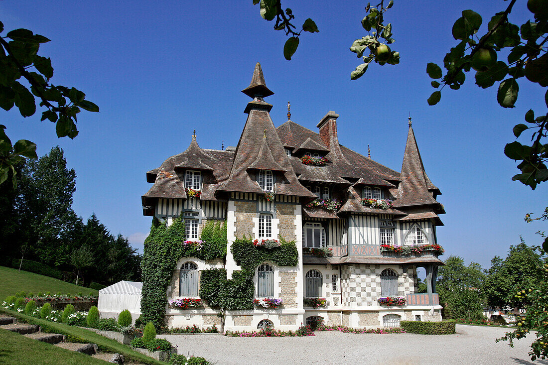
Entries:
{"label": "dark green ivy around the arched window of the front central tower", "polygon": [[236,264],[242,270],[226,278],[225,269],[203,270],[200,277],[200,298],[214,309],[250,310],[253,309],[255,269],[265,261],[279,266],[296,266],[299,263],[299,250],[295,241],[280,239],[281,246],[265,248],[254,246],[251,239],[236,239],[230,248]]}

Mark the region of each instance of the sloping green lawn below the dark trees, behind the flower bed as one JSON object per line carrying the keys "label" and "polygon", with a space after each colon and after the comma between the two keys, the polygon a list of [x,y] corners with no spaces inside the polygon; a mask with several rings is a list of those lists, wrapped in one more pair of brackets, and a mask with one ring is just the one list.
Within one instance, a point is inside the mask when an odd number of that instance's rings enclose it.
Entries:
{"label": "sloping green lawn below the dark trees, behind the flower bed", "polygon": [[37,273],[22,271],[10,267],[0,266],[0,300],[8,295],[14,295],[17,292],[24,291],[27,294],[38,292],[52,294],[61,292],[62,294],[71,293],[77,294],[82,292],[83,294],[93,293],[98,295],[97,290],[91,288],[84,288],[75,284],[67,283],[53,277],[39,275]]}

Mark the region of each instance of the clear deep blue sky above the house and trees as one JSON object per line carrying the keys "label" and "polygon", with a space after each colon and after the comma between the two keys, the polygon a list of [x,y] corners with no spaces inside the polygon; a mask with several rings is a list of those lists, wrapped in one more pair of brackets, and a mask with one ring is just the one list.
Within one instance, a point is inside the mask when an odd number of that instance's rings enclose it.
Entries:
{"label": "clear deep blue sky above the house and trees", "polygon": [[[544,210],[548,183],[532,191],[511,181],[516,164],[503,149],[527,110],[545,111],[545,90],[522,79],[516,108],[503,109],[496,87],[480,89],[469,74],[460,90],[444,89],[438,105],[426,103],[433,92],[426,64],[442,64],[456,44],[451,28],[461,10],[481,14],[484,31],[507,2],[397,0],[385,19],[401,62],[373,65],[358,81],[350,81],[360,60],[349,47],[367,35],[360,23],[365,3],[282,4],[293,9],[296,24],[312,18],[320,30],[301,36],[292,61],[283,58],[286,37],[260,18],[251,0],[2,1],[6,30],[28,28],[52,40],[40,51],[52,59],[52,82],[82,90],[101,110],[78,116],[74,140],[56,138],[40,113],[22,118],[15,109],[1,111],[2,124],[12,140],[36,142],[39,156],[61,146],[78,176],[75,212],[84,219],[95,212],[112,233],[141,249],[151,221],[141,210],[140,197],[150,187],[145,173],[184,151],[193,129],[203,148],[219,149],[222,140],[236,145],[249,100],[240,90],[259,61],[276,93],[266,99],[276,126],[287,119],[288,100],[292,120],[313,130],[334,110],[341,144],[363,154],[369,144],[373,159],[398,171],[411,114],[426,172],[447,211],[437,231],[446,248],[442,258],[455,254],[488,267],[519,235],[540,242],[534,232],[546,223],[526,224],[523,216]],[[517,24],[532,18],[525,5],[518,2],[511,14]]]}

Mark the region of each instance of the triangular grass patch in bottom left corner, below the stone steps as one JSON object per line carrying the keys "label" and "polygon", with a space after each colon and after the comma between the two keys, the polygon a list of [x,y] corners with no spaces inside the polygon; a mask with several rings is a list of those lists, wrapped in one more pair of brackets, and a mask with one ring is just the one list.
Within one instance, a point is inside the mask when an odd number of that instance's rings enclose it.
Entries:
{"label": "triangular grass patch in bottom left corner, below the stone steps", "polygon": [[98,360],[80,352],[61,349],[0,328],[0,364],[10,365],[101,365]]}

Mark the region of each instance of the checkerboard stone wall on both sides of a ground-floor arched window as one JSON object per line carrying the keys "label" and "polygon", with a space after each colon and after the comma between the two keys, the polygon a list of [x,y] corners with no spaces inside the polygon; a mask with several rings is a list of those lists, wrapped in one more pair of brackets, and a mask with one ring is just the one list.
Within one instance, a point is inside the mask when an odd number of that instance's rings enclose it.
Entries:
{"label": "checkerboard stone wall on both sides of a ground-floor arched window", "polygon": [[[380,273],[385,265],[355,264],[341,268],[341,292],[343,306],[369,307],[376,306],[381,296]],[[399,267],[398,296],[415,293],[416,270],[407,267],[402,273]]]}

